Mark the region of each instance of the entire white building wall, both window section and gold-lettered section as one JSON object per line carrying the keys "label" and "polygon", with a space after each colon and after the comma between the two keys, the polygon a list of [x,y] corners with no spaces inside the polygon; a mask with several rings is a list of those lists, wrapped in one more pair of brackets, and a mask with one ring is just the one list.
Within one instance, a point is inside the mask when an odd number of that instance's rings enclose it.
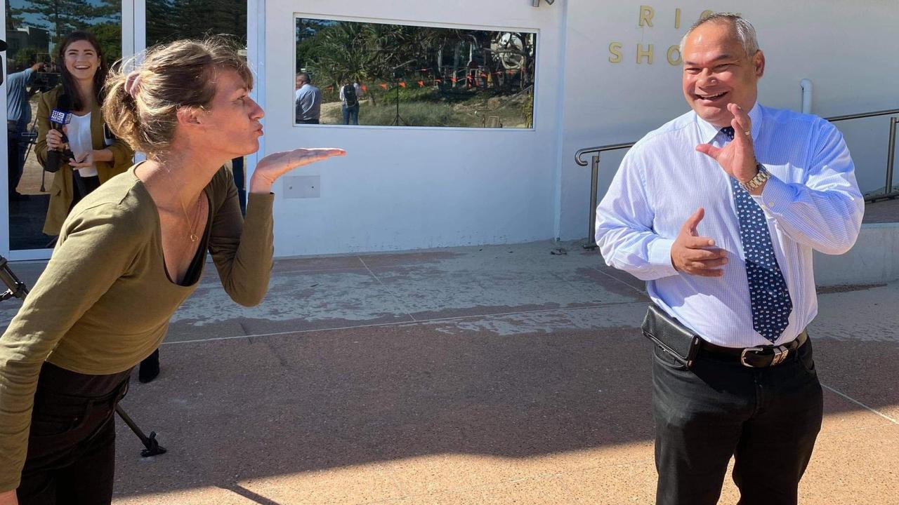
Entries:
{"label": "entire white building wall, both window section and gold-lettered section", "polygon": [[[587,236],[585,146],[634,141],[687,111],[681,68],[667,61],[704,10],[736,11],[759,31],[768,60],[767,105],[798,110],[799,82],[814,83],[823,116],[899,106],[899,58],[890,33],[894,0],[264,0],[261,65],[267,111],[264,150],[340,146],[348,156],[300,169],[319,175],[321,197],[276,188],[276,254],[405,250]],[[640,26],[641,6],[654,9]],[[676,10],[681,22],[675,27]],[[539,31],[533,130],[293,126],[294,13],[352,21]],[[610,63],[610,43],[621,62]],[[637,44],[654,62],[636,63]],[[674,55],[677,56],[677,55]],[[887,120],[841,123],[862,190],[883,185]],[[623,152],[603,155],[600,194]],[[899,178],[899,176],[897,176]]]}

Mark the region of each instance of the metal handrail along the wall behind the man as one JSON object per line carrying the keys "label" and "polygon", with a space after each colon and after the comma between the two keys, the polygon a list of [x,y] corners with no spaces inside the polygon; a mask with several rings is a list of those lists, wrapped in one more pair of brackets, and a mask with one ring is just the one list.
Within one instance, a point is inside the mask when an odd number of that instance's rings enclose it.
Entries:
{"label": "metal handrail along the wall behind the man", "polygon": [[[824,118],[824,120],[833,123],[837,121],[860,120],[863,118],[875,118],[877,116],[889,116],[894,114],[899,115],[899,109],[860,112],[858,114],[845,114],[842,116],[832,116],[830,118]],[[893,167],[895,165],[897,123],[899,123],[899,117],[890,118],[890,133],[889,141],[887,142],[888,152],[886,155],[886,185],[884,187],[884,193],[877,195],[868,195],[867,197],[865,197],[865,201],[877,201],[878,199],[893,199],[899,197],[899,191],[893,191]],[[596,228],[596,191],[598,190],[600,180],[600,155],[601,153],[604,153],[606,151],[628,149],[630,147],[633,147],[635,144],[636,142],[622,142],[619,144],[607,144],[605,146],[585,147],[583,149],[578,149],[577,152],[574,153],[574,163],[580,166],[587,166],[587,162],[583,159],[583,155],[593,155],[590,178],[590,223],[587,230],[587,243],[583,245],[584,248],[592,249],[596,247],[596,243],[591,240],[591,237],[594,233],[593,230],[595,230]]]}

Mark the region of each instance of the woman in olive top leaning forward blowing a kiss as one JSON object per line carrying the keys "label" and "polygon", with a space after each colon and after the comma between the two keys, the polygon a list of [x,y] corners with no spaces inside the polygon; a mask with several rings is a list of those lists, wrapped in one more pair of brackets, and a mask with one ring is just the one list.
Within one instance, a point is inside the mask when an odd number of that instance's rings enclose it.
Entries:
{"label": "woman in olive top leaning forward blowing a kiss", "polygon": [[[199,84],[199,85],[198,85]],[[343,149],[265,156],[246,220],[224,165],[259,149],[253,75],[222,40],[150,49],[108,79],[103,112],[147,153],[81,200],[19,314],[0,337],[0,505],[108,504],[115,405],[132,368],[165,337],[212,254],[237,303],[259,304],[271,276],[271,185]]]}

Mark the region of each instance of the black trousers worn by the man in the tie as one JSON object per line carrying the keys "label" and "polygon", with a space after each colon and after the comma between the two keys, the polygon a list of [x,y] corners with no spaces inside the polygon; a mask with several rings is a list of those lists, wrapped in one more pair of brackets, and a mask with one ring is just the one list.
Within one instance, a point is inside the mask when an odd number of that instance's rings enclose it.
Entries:
{"label": "black trousers worn by the man in the tie", "polygon": [[655,346],[653,411],[656,505],[715,505],[731,456],[739,505],[796,505],[823,415],[812,342],[770,368]]}

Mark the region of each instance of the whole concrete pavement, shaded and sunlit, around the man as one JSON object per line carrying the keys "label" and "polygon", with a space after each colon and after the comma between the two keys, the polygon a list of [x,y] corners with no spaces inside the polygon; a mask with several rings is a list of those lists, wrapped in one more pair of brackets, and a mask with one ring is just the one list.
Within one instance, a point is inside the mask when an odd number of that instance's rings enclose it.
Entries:
{"label": "whole concrete pavement, shaded and sunlit, around the man", "polygon": [[[30,285],[40,271],[13,266]],[[214,270],[160,377],[122,402],[169,452],[141,458],[120,423],[117,505],[652,502],[645,292],[598,253],[280,260],[254,308]],[[822,291],[825,418],[800,502],[895,503],[899,282]]]}

